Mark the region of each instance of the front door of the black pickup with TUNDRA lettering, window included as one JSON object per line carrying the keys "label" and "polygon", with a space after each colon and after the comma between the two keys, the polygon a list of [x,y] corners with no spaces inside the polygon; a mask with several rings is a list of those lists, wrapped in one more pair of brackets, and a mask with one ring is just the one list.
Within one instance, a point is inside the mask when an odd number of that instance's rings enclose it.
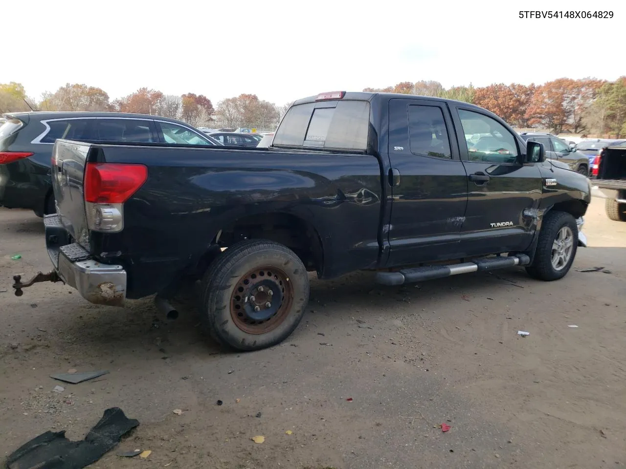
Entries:
{"label": "front door of the black pickup with TUNDRA lettering, window included", "polygon": [[472,136],[459,135],[469,184],[461,248],[467,256],[526,250],[541,199],[538,166],[522,164],[521,139],[496,119],[462,105],[451,111],[459,134]]}

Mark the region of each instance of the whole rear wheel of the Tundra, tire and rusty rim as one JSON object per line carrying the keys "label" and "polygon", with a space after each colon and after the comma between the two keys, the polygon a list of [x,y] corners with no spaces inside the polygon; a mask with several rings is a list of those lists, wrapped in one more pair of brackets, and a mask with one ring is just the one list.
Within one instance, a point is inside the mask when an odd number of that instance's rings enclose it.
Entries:
{"label": "whole rear wheel of the Tundra, tire and rusty rim", "polygon": [[308,302],[309,275],[300,258],[272,241],[247,240],[230,246],[208,267],[199,309],[215,341],[251,351],[285,340]]}

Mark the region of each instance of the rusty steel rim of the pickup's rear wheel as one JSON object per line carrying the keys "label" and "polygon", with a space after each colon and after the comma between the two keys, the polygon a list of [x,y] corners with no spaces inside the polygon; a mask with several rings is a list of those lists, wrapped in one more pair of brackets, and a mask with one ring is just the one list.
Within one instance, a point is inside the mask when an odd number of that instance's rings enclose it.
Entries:
{"label": "rusty steel rim of the pickup's rear wheel", "polygon": [[237,281],[230,295],[230,316],[240,330],[265,334],[285,321],[293,300],[293,286],[284,271],[257,267]]}

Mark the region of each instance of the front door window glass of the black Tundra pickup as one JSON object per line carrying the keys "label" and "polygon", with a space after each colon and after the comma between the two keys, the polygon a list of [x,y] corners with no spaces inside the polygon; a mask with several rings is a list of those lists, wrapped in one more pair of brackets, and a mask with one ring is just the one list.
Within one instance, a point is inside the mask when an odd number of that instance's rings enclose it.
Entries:
{"label": "front door window glass of the black Tundra pickup", "polygon": [[515,164],[518,149],[515,137],[502,124],[485,114],[459,109],[464,134],[478,134],[475,143],[466,141],[469,161]]}

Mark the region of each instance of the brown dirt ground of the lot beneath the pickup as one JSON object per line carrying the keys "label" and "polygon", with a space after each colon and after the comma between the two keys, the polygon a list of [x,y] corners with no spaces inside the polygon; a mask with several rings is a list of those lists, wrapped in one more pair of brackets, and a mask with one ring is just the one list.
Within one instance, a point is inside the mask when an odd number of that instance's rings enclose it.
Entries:
{"label": "brown dirt ground of the lot beneath the pickup", "polygon": [[[12,276],[49,260],[41,219],[0,209],[0,455],[47,430],[82,439],[119,406],[140,425],[93,468],[623,466],[626,223],[594,198],[584,231],[590,247],[553,283],[522,269],[404,288],[313,280],[287,341],[223,353],[187,297],[167,321],[151,299],[106,308],[62,284],[14,296]],[[49,377],[70,368],[109,373]],[[135,449],[151,454],[116,456]]]}

